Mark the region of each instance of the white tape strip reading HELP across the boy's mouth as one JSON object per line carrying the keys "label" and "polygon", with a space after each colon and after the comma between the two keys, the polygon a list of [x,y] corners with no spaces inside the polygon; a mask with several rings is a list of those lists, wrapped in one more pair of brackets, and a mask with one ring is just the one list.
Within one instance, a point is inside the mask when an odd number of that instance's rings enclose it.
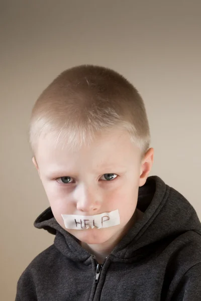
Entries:
{"label": "white tape strip reading HELP across the boy's mouth", "polygon": [[119,210],[96,215],[61,214],[66,229],[109,228],[120,224]]}

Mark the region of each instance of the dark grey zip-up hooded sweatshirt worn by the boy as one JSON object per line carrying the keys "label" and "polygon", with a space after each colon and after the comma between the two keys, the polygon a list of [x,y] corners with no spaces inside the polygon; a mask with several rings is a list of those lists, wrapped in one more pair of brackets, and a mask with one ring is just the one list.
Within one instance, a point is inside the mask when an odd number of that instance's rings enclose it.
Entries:
{"label": "dark grey zip-up hooded sweatshirt worn by the boy", "polygon": [[143,218],[103,265],[53,217],[35,221],[55,235],[22,273],[16,301],[200,301],[201,224],[190,203],[159,177],[139,188]]}

